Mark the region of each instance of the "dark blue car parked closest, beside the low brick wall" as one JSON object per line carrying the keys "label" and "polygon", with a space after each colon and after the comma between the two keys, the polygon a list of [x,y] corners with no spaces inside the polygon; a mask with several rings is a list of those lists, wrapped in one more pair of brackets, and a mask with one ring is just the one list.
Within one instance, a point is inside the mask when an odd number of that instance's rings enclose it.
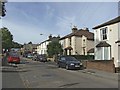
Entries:
{"label": "dark blue car parked closest, beside the low brick wall", "polygon": [[58,67],[68,69],[80,69],[82,63],[72,56],[61,56],[57,62]]}

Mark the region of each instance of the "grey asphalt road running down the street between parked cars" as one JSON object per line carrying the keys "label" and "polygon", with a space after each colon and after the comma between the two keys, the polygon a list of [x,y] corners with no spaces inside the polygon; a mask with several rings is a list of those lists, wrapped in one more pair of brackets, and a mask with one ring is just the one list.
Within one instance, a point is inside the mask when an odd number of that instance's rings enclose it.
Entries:
{"label": "grey asphalt road running down the street between parked cars", "polygon": [[23,59],[14,70],[16,72],[3,72],[4,88],[118,88],[117,80],[89,75],[82,70],[61,69],[53,62],[42,63]]}

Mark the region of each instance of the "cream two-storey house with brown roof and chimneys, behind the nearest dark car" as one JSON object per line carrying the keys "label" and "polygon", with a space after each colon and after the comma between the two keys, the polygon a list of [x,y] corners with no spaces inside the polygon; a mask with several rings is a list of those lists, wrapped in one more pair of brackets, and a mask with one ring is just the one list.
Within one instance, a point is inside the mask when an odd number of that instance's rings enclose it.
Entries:
{"label": "cream two-storey house with brown roof and chimneys, behind the nearest dark car", "polygon": [[[88,28],[72,28],[72,33],[60,38],[64,55],[87,55],[94,54],[94,34]],[[92,52],[91,52],[92,51]]]}

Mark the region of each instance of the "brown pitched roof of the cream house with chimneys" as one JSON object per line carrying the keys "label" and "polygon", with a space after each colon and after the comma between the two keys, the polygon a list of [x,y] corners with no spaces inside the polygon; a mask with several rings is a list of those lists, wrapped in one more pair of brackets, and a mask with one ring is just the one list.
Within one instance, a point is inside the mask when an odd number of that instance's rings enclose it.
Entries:
{"label": "brown pitched roof of the cream house with chimneys", "polygon": [[83,29],[76,31],[75,33],[70,33],[60,38],[60,40],[65,39],[65,38],[70,38],[72,36],[82,37],[83,35],[86,36],[88,40],[94,40],[94,33],[89,32],[88,30],[83,30]]}

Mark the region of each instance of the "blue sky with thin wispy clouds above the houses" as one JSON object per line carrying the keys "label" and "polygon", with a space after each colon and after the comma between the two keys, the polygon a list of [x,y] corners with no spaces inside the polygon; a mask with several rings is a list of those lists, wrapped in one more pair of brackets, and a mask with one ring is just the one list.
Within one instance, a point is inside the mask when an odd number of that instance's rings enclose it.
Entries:
{"label": "blue sky with thin wispy clouds above the houses", "polygon": [[[13,40],[38,44],[48,36],[70,34],[78,29],[92,28],[118,16],[118,2],[7,2],[2,27],[7,27]],[[72,1],[72,0],[71,0]],[[43,35],[40,35],[43,34]]]}

